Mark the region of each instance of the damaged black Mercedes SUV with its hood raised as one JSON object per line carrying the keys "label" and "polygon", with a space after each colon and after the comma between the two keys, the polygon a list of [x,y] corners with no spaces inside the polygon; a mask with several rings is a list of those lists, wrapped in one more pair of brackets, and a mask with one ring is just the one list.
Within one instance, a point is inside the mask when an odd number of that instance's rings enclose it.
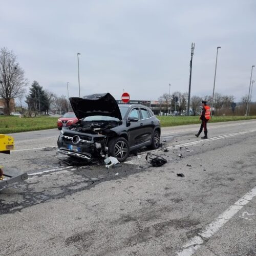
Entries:
{"label": "damaged black Mercedes SUV with its hood raised", "polygon": [[69,99],[79,121],[61,130],[59,153],[86,161],[112,156],[122,162],[140,147],[159,147],[160,121],[146,106],[118,105],[110,93]]}

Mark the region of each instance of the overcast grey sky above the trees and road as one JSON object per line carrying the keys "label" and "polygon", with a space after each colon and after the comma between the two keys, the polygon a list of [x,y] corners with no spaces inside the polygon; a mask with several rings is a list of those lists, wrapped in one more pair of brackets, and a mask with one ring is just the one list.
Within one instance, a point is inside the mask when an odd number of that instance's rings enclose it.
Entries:
{"label": "overcast grey sky above the trees and road", "polygon": [[[123,90],[131,100],[188,92],[248,95],[256,66],[256,1],[0,0],[0,47],[17,55],[30,85],[58,96]],[[256,81],[254,68],[252,80]],[[252,93],[256,100],[256,82]]]}

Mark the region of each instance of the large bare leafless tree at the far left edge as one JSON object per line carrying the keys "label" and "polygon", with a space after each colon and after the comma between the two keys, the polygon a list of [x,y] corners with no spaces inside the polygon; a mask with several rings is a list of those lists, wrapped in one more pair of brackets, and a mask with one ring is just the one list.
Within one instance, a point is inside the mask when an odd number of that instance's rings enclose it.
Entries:
{"label": "large bare leafless tree at the far left edge", "polygon": [[28,82],[24,70],[19,66],[16,55],[7,48],[0,50],[0,96],[5,100],[5,112],[10,115],[11,99],[25,92]]}

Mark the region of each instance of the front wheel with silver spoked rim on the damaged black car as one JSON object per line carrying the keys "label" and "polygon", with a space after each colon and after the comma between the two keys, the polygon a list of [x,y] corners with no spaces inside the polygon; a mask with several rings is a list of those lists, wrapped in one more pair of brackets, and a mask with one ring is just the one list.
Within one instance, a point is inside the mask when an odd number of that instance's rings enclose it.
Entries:
{"label": "front wheel with silver spoked rim on the damaged black car", "polygon": [[130,154],[128,141],[123,138],[114,138],[109,142],[109,155],[117,158],[119,162],[123,162]]}

